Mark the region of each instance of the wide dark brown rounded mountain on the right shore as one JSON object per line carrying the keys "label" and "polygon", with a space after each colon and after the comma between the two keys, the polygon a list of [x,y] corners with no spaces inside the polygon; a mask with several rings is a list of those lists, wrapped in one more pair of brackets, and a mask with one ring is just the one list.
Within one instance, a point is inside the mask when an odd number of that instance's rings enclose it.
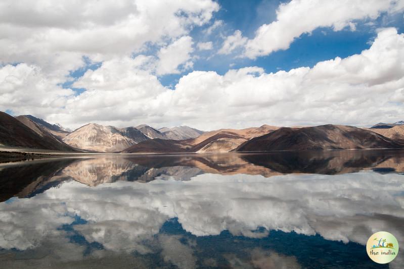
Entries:
{"label": "wide dark brown rounded mountain on the right shore", "polygon": [[351,126],[322,125],[281,128],[253,138],[235,151],[399,148],[403,144],[380,134]]}

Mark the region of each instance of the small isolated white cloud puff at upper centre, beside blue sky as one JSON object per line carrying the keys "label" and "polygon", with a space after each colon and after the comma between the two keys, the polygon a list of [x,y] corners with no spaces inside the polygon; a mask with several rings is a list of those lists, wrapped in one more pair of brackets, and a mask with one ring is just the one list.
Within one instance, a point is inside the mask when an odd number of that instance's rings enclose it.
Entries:
{"label": "small isolated white cloud puff at upper centre, beside blue sky", "polygon": [[193,66],[191,59],[191,52],[194,42],[191,36],[183,36],[178,38],[166,47],[160,48],[157,53],[159,61],[156,67],[157,75],[164,74],[179,74],[178,70],[180,65],[184,65],[183,68],[188,69]]}

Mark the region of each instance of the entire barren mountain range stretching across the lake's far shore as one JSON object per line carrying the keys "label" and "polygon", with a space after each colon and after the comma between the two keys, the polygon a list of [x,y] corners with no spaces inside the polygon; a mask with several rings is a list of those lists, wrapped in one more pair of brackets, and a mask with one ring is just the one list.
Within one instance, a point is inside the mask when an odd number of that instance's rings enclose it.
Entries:
{"label": "entire barren mountain range stretching across the lake's far shore", "polygon": [[371,128],[331,124],[300,128],[262,125],[204,132],[188,126],[156,129],[142,124],[117,128],[89,123],[71,131],[31,115],[12,117],[0,112],[0,145],[106,153],[401,148],[404,125],[401,122]]}

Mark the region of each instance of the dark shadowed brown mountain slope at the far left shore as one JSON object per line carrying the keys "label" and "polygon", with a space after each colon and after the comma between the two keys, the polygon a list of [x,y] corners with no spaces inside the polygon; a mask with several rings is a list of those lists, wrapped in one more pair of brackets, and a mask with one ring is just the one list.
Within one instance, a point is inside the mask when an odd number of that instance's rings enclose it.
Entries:
{"label": "dark shadowed brown mountain slope at the far left shore", "polygon": [[[24,118],[26,119],[26,118]],[[38,149],[76,151],[56,136],[44,131],[39,125],[27,121],[28,127],[18,119],[0,112],[0,144]]]}

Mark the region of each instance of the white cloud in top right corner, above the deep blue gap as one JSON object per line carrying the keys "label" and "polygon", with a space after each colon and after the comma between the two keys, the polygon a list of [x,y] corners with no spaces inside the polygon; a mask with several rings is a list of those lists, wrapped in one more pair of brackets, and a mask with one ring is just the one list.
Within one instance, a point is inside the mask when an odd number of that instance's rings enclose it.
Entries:
{"label": "white cloud in top right corner, above the deep blue gap", "polygon": [[255,37],[245,45],[245,56],[256,58],[287,49],[301,34],[319,27],[340,31],[349,26],[354,31],[353,20],[376,19],[381,12],[402,8],[402,0],[292,0],[279,6],[276,21],[258,28]]}

